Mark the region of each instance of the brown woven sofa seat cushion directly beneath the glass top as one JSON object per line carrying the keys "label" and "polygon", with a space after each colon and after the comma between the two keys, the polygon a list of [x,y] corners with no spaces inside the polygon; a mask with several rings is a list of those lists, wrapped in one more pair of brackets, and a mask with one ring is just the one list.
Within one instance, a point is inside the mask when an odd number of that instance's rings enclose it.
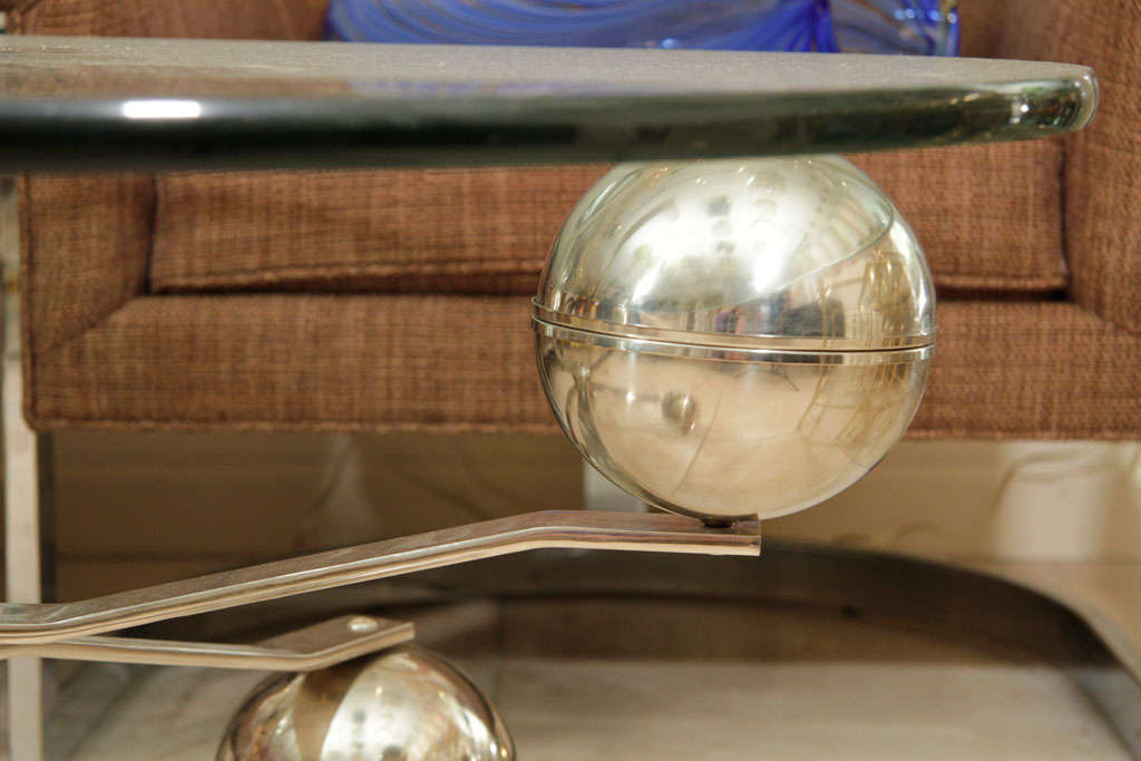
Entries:
{"label": "brown woven sofa seat cushion directly beneath the glass top", "polygon": [[[856,156],[938,285],[1066,286],[1061,144]],[[157,180],[151,290],[529,293],[601,165],[184,173]]]}

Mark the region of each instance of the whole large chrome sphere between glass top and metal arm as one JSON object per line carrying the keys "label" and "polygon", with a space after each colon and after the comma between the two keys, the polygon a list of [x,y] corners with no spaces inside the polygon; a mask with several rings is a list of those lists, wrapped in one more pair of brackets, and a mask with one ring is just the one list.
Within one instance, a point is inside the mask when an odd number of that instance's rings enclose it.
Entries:
{"label": "whole large chrome sphere between glass top and metal arm", "polygon": [[707,523],[816,504],[923,395],[934,293],[891,201],[839,156],[623,164],[578,202],[534,302],[583,456]]}

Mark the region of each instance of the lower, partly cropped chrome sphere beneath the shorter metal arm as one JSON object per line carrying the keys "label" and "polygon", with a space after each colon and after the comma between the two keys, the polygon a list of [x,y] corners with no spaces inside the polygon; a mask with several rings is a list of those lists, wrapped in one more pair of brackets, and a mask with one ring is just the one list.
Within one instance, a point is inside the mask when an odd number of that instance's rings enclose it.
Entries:
{"label": "lower, partly cropped chrome sphere beneath the shorter metal arm", "polygon": [[459,671],[400,646],[330,669],[269,678],[230,722],[218,761],[504,761],[499,713]]}

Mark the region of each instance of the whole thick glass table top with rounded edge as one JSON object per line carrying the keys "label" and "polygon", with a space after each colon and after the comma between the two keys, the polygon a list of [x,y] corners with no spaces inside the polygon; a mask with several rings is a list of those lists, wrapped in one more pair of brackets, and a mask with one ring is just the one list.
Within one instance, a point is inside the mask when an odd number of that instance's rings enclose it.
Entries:
{"label": "whole thick glass table top with rounded edge", "polygon": [[1091,70],[1034,62],[0,37],[0,172],[877,151],[1095,107]]}

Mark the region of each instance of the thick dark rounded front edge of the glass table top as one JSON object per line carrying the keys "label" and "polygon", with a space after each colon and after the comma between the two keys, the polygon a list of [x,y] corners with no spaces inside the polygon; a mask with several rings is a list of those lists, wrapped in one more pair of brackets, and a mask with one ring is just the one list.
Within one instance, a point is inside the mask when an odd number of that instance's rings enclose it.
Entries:
{"label": "thick dark rounded front edge of the glass table top", "polygon": [[[204,98],[0,95],[0,172],[521,165],[851,153],[1049,137],[1085,127],[1098,84],[589,98]],[[138,106],[136,105],[137,110]]]}

